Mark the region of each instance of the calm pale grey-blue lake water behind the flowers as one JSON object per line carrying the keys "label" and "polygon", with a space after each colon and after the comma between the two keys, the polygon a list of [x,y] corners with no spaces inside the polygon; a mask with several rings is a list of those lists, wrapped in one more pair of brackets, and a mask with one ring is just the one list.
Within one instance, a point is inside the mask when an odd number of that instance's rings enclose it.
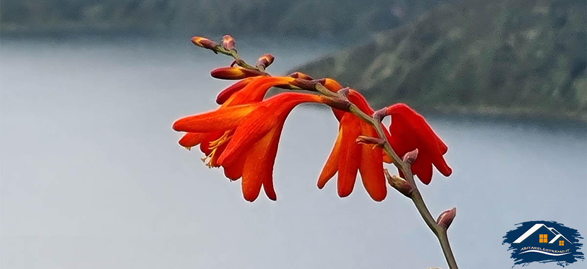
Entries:
{"label": "calm pale grey-blue lake water behind the flowers", "polygon": [[[335,50],[303,41],[239,42],[274,53],[275,74]],[[278,201],[176,144],[171,123],[215,107],[230,59],[188,40],[1,43],[2,268],[446,268],[411,203],[357,186],[315,186],[336,136],[326,109],[299,107],[275,167]],[[454,174],[421,190],[462,268],[510,268],[505,232],[555,220],[587,235],[584,126],[432,118]],[[585,241],[583,241],[585,243]],[[582,268],[579,262],[569,268]],[[532,264],[552,268],[552,264]]]}

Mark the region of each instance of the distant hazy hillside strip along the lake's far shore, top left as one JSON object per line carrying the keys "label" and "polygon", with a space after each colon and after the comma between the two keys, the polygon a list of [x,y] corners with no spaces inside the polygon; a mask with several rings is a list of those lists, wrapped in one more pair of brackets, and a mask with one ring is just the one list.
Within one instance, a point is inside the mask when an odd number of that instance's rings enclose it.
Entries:
{"label": "distant hazy hillside strip along the lake's far shore, top left", "polygon": [[[140,31],[356,40],[449,0],[3,0],[3,33]],[[453,1],[453,0],[451,0]]]}

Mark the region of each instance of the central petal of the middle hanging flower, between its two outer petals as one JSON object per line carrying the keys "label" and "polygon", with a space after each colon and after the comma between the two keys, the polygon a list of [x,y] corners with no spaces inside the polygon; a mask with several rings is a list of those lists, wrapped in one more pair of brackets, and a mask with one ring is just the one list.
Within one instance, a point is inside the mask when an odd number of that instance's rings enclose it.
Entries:
{"label": "central petal of the middle hanging flower, between its two outer petals", "polygon": [[338,165],[337,189],[340,197],[349,196],[355,187],[357,169],[360,163],[360,145],[355,142],[360,134],[360,119],[346,113],[340,120],[342,140]]}

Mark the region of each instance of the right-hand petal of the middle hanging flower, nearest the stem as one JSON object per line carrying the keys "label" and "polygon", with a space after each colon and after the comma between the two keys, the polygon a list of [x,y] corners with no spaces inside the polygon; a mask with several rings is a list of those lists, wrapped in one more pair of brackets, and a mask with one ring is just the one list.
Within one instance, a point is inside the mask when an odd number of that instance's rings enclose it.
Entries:
{"label": "right-hand petal of the middle hanging flower, nearest the stem", "polygon": [[[373,127],[361,123],[364,136],[376,137],[377,133]],[[361,145],[361,158],[359,172],[363,186],[369,196],[375,201],[383,201],[387,195],[385,176],[383,174],[383,150],[381,147],[373,148],[373,145]]]}

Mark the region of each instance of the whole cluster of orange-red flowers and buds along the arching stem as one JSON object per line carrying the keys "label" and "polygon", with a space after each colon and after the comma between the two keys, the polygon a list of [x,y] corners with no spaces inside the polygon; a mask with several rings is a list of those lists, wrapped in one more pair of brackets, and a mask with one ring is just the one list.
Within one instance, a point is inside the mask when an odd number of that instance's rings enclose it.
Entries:
{"label": "whole cluster of orange-red flowers and buds along the arching stem", "polygon": [[[201,37],[194,37],[192,42],[216,53],[233,56],[235,61],[231,66],[214,69],[211,75],[238,81],[220,92],[216,99],[220,105],[217,109],[182,117],[173,124],[173,129],[185,132],[179,140],[181,146],[187,149],[200,146],[207,166],[222,167],[230,180],[241,179],[245,200],[257,199],[261,189],[264,189],[269,199],[276,200],[272,174],[279,137],[286,117],[301,103],[328,105],[339,122],[338,137],[318,177],[318,187],[322,189],[338,174],[338,195],[346,197],[353,191],[359,173],[369,196],[375,201],[385,199],[387,187],[383,163],[390,163],[392,159],[380,145],[357,139],[378,137],[370,123],[348,110],[352,104],[366,115],[375,113],[359,92],[342,88],[333,79],[313,80],[299,72],[289,76],[271,76],[265,72],[265,68],[274,61],[272,55],[262,55],[257,65],[249,66],[238,58],[234,39],[228,35],[224,36],[222,44]],[[307,92],[317,83],[345,98]],[[306,91],[279,93],[265,98],[266,92],[272,87]],[[411,170],[424,184],[430,183],[432,166],[444,176],[451,174],[443,157],[447,146],[424,117],[403,103],[386,107],[377,113],[392,117],[389,132],[384,128],[386,137],[380,139],[386,139],[400,156],[418,150]]]}

